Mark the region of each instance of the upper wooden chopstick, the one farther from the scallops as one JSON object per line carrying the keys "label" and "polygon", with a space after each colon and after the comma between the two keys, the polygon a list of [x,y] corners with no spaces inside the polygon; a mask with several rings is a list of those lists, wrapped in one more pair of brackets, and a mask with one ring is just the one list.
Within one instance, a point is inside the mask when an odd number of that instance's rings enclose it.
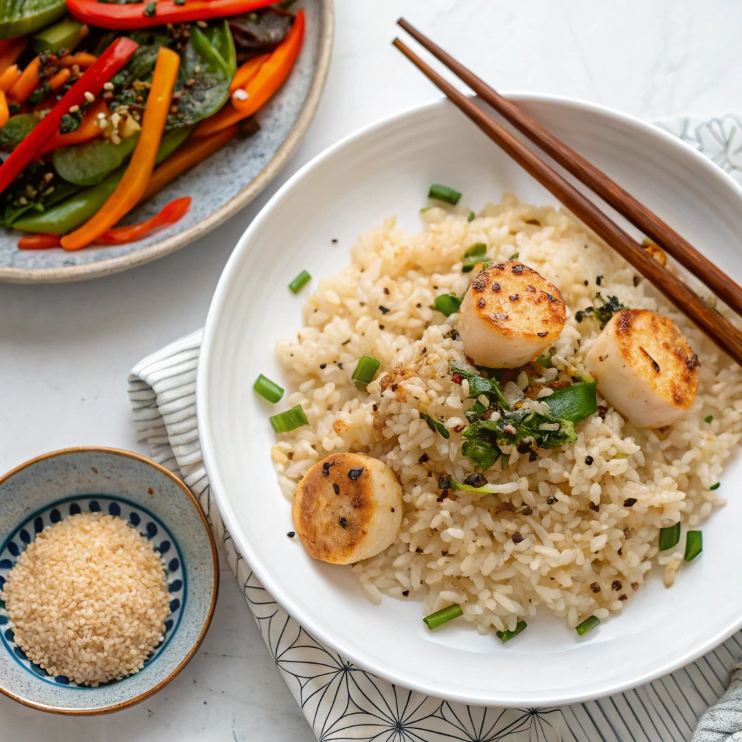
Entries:
{"label": "upper wooden chopstick, the one farther from the scallops", "polygon": [[425,47],[433,56],[443,62],[448,69],[465,82],[482,100],[489,103],[499,114],[528,139],[538,145],[549,157],[559,162],[566,171],[574,175],[580,183],[584,183],[597,193],[606,203],[660,247],[669,252],[678,263],[685,266],[693,275],[700,278],[709,289],[729,307],[742,315],[742,287],[729,278],[718,266],[715,266],[707,257],[700,254],[687,240],[677,234],[671,226],[666,224],[657,214],[647,209],[643,203],[637,201],[628,191],[608,177],[600,168],[597,168],[582,155],[578,154],[561,139],[551,134],[539,123],[525,114],[515,103],[503,98],[496,90],[461,62],[453,59],[435,42],[432,42],[424,33],[421,33],[401,18],[397,23]]}

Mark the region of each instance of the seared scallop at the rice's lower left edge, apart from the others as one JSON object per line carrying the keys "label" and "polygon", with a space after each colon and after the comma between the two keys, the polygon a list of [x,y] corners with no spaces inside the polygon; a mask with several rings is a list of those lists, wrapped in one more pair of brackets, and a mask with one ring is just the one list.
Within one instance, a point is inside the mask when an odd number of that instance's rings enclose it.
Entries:
{"label": "seared scallop at the rice's lower left edge, apart from the others", "polygon": [[402,488],[378,459],[333,453],[299,482],[293,516],[310,556],[352,564],[384,551],[396,538],[402,522]]}

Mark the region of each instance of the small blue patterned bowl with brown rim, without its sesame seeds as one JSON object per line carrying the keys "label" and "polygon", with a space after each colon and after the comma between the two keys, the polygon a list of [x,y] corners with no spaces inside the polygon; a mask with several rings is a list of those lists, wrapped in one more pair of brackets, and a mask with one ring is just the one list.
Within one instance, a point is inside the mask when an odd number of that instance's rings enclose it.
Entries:
{"label": "small blue patterned bowl with brown rim, without its sesame seeds", "polygon": [[88,715],[139,703],[185,667],[209,630],[219,567],[206,517],[177,476],[128,451],[55,451],[0,479],[0,588],[37,533],[67,516],[95,511],[127,520],[162,554],[171,593],[165,638],[137,674],[96,688],[77,686],[27,659],[0,600],[0,692],[34,709]]}

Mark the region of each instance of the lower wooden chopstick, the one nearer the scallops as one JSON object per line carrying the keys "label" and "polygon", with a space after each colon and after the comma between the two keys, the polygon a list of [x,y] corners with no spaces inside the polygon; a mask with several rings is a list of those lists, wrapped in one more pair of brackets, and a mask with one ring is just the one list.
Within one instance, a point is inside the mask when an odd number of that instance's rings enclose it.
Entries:
{"label": "lower wooden chopstick, the one nearer the scallops", "polygon": [[447,98],[476,123],[490,139],[554,194],[573,214],[605,240],[621,257],[646,276],[677,309],[695,322],[709,338],[742,365],[742,332],[698,296],[683,281],[654,260],[629,234],[591,203],[574,185],[568,183],[538,155],[513,137],[502,125],[478,108],[464,93],[459,92],[416,53],[394,39],[397,47],[410,62],[433,82]]}

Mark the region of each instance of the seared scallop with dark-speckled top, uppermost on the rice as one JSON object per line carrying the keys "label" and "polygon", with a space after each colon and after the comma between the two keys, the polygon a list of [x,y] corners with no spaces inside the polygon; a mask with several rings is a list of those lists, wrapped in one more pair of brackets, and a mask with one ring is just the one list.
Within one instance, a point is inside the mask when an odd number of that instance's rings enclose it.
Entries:
{"label": "seared scallop with dark-speckled top, uppermost on the rice", "polygon": [[485,268],[459,308],[464,352],[477,366],[514,369],[562,332],[565,303],[553,283],[516,260]]}

